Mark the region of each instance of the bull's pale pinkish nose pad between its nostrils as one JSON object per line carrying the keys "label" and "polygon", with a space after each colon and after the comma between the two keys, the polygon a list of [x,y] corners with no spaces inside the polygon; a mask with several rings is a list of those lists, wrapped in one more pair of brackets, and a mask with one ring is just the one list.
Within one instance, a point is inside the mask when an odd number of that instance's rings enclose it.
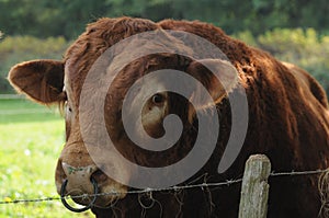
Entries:
{"label": "bull's pale pinkish nose pad between its nostrils", "polygon": [[98,171],[98,167],[72,167],[68,163],[61,163],[64,173],[67,177],[67,194],[79,195],[82,193],[93,193],[93,184],[90,182],[91,175]]}

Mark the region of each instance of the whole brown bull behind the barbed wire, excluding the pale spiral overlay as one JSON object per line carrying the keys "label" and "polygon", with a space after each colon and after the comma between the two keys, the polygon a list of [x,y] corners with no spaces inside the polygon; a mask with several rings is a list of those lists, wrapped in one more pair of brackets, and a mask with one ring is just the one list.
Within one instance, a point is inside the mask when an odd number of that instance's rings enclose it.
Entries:
{"label": "whole brown bull behind the barbed wire, excluding the pale spiral overlay", "polygon": [[[269,54],[232,39],[211,24],[164,20],[154,23],[141,19],[101,19],[88,25],[87,31],[69,47],[64,60],[33,60],[14,66],[10,73],[11,84],[42,104],[65,103],[66,145],[56,169],[58,192],[67,181],[66,193],[92,194],[91,177],[100,193],[116,195],[99,196],[92,211],[97,217],[237,217],[240,184],[224,187],[191,188],[155,192],[152,196],[125,194],[131,191],[128,181],[134,169],[128,169],[116,154],[99,157],[111,165],[95,164],[86,148],[82,137],[82,117],[79,111],[80,93],[89,70],[97,59],[111,46],[132,35],[148,31],[173,30],[193,33],[217,46],[235,69],[218,59],[193,60],[174,55],[174,48],[159,41],[159,46],[171,53],[140,57],[125,66],[113,80],[104,99],[104,119],[115,148],[126,159],[145,167],[163,167],[175,163],[192,149],[197,135],[197,111],[207,113],[207,105],[192,106],[189,99],[172,92],[159,92],[149,97],[141,111],[145,131],[152,138],[164,133],[162,122],[169,114],[180,116],[183,131],[175,146],[162,152],[140,149],[129,140],[121,118],[122,104],[129,87],[147,73],[160,69],[184,71],[200,80],[208,90],[219,118],[219,136],[209,160],[200,171],[182,184],[219,182],[241,177],[243,164],[252,153],[264,153],[275,172],[306,171],[328,168],[329,160],[329,108],[326,93],[306,71],[291,64],[277,61]],[[164,33],[163,33],[164,34]],[[166,36],[167,37],[167,36]],[[168,36],[173,44],[191,53],[180,36]],[[161,44],[162,43],[162,44]],[[147,42],[139,45],[147,46]],[[129,51],[118,50],[125,58]],[[220,82],[203,64],[215,65]],[[111,60],[109,61],[111,67]],[[112,66],[113,67],[113,66]],[[111,68],[114,69],[115,67]],[[109,69],[109,68],[107,68]],[[95,81],[97,82],[97,81]],[[239,156],[231,167],[219,174],[218,163],[230,135],[231,111],[228,96],[239,92],[241,84],[247,93],[249,123],[246,139]],[[161,87],[157,81],[155,87]],[[182,84],[189,87],[189,84]],[[97,93],[95,88],[88,88]],[[137,95],[138,96],[138,95]],[[195,96],[191,96],[195,97]],[[197,97],[197,96],[196,96]],[[202,99],[202,96],[201,96]],[[139,101],[138,99],[136,101]],[[134,104],[132,103],[132,113]],[[84,118],[92,122],[100,112],[90,108]],[[135,125],[135,124],[132,124]],[[87,129],[87,133],[98,129]],[[138,129],[137,129],[138,131]],[[212,135],[213,133],[208,133]],[[106,146],[106,145],[103,145]],[[156,146],[156,145],[155,145]],[[95,148],[97,149],[97,148]],[[102,160],[101,160],[102,161]],[[121,183],[104,173],[114,168]],[[79,173],[79,169],[81,172]],[[73,172],[77,171],[77,172]],[[87,172],[88,171],[88,172]],[[137,172],[138,173],[138,172]],[[177,173],[178,176],[180,172]],[[285,176],[270,179],[269,217],[317,217],[321,202],[317,188],[319,175]],[[146,179],[151,180],[151,179]],[[124,182],[127,183],[124,183]],[[154,202],[152,202],[154,199]],[[143,204],[140,202],[145,200]],[[90,199],[77,198],[88,205]],[[143,205],[155,203],[146,209]]]}

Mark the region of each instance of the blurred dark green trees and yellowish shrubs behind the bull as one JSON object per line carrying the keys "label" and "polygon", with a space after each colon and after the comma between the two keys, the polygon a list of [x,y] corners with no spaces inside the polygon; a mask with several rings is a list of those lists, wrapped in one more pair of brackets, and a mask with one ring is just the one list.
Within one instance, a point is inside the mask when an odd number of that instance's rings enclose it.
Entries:
{"label": "blurred dark green trees and yellowish shrubs behind the bull", "polygon": [[328,92],[328,14],[327,0],[0,0],[0,93],[11,92],[5,77],[12,65],[61,58],[87,23],[121,15],[214,23],[307,69]]}

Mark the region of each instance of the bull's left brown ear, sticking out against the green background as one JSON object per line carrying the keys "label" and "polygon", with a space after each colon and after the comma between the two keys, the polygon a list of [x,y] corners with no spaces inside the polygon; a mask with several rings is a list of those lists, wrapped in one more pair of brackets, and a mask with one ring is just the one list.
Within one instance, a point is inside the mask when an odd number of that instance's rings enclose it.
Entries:
{"label": "bull's left brown ear, sticking out against the green background", "polygon": [[42,104],[63,99],[64,61],[32,60],[11,68],[8,79],[19,93]]}

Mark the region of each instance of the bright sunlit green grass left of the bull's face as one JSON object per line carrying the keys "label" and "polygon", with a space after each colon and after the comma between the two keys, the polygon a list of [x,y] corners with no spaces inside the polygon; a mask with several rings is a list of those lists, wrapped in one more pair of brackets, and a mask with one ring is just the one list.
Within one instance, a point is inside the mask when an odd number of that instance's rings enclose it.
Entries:
{"label": "bright sunlit green grass left of the bull's face", "polygon": [[[64,121],[55,108],[26,100],[0,100],[0,202],[58,197],[55,167],[64,145]],[[93,217],[60,200],[1,204],[0,218]]]}

